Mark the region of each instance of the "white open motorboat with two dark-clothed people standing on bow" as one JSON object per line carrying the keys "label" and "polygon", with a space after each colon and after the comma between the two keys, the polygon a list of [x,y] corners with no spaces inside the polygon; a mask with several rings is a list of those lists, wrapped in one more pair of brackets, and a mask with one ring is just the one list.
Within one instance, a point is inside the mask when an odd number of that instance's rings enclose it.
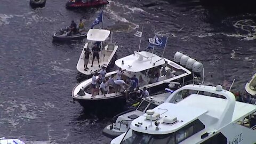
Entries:
{"label": "white open motorboat with two dark-clothed people standing on bow", "polygon": [[[110,31],[106,29],[90,29],[87,33],[87,43],[85,43],[82,53],[79,57],[79,60],[77,62],[76,68],[77,70],[85,75],[91,75],[95,71],[98,71],[101,69],[101,67],[108,67],[111,59],[114,57],[114,54],[116,53],[118,49],[118,45],[115,43],[112,43],[112,35],[110,36],[110,42],[107,43],[105,46],[105,43],[109,39]],[[90,55],[89,62],[87,64],[87,68],[84,68],[84,49],[89,48],[90,51],[92,49],[94,42],[100,42],[100,52],[99,52],[99,59],[100,59],[100,67],[98,65],[98,61],[95,58],[93,62],[93,67],[91,67],[92,64],[92,54]],[[92,51],[91,51],[92,53]]]}

